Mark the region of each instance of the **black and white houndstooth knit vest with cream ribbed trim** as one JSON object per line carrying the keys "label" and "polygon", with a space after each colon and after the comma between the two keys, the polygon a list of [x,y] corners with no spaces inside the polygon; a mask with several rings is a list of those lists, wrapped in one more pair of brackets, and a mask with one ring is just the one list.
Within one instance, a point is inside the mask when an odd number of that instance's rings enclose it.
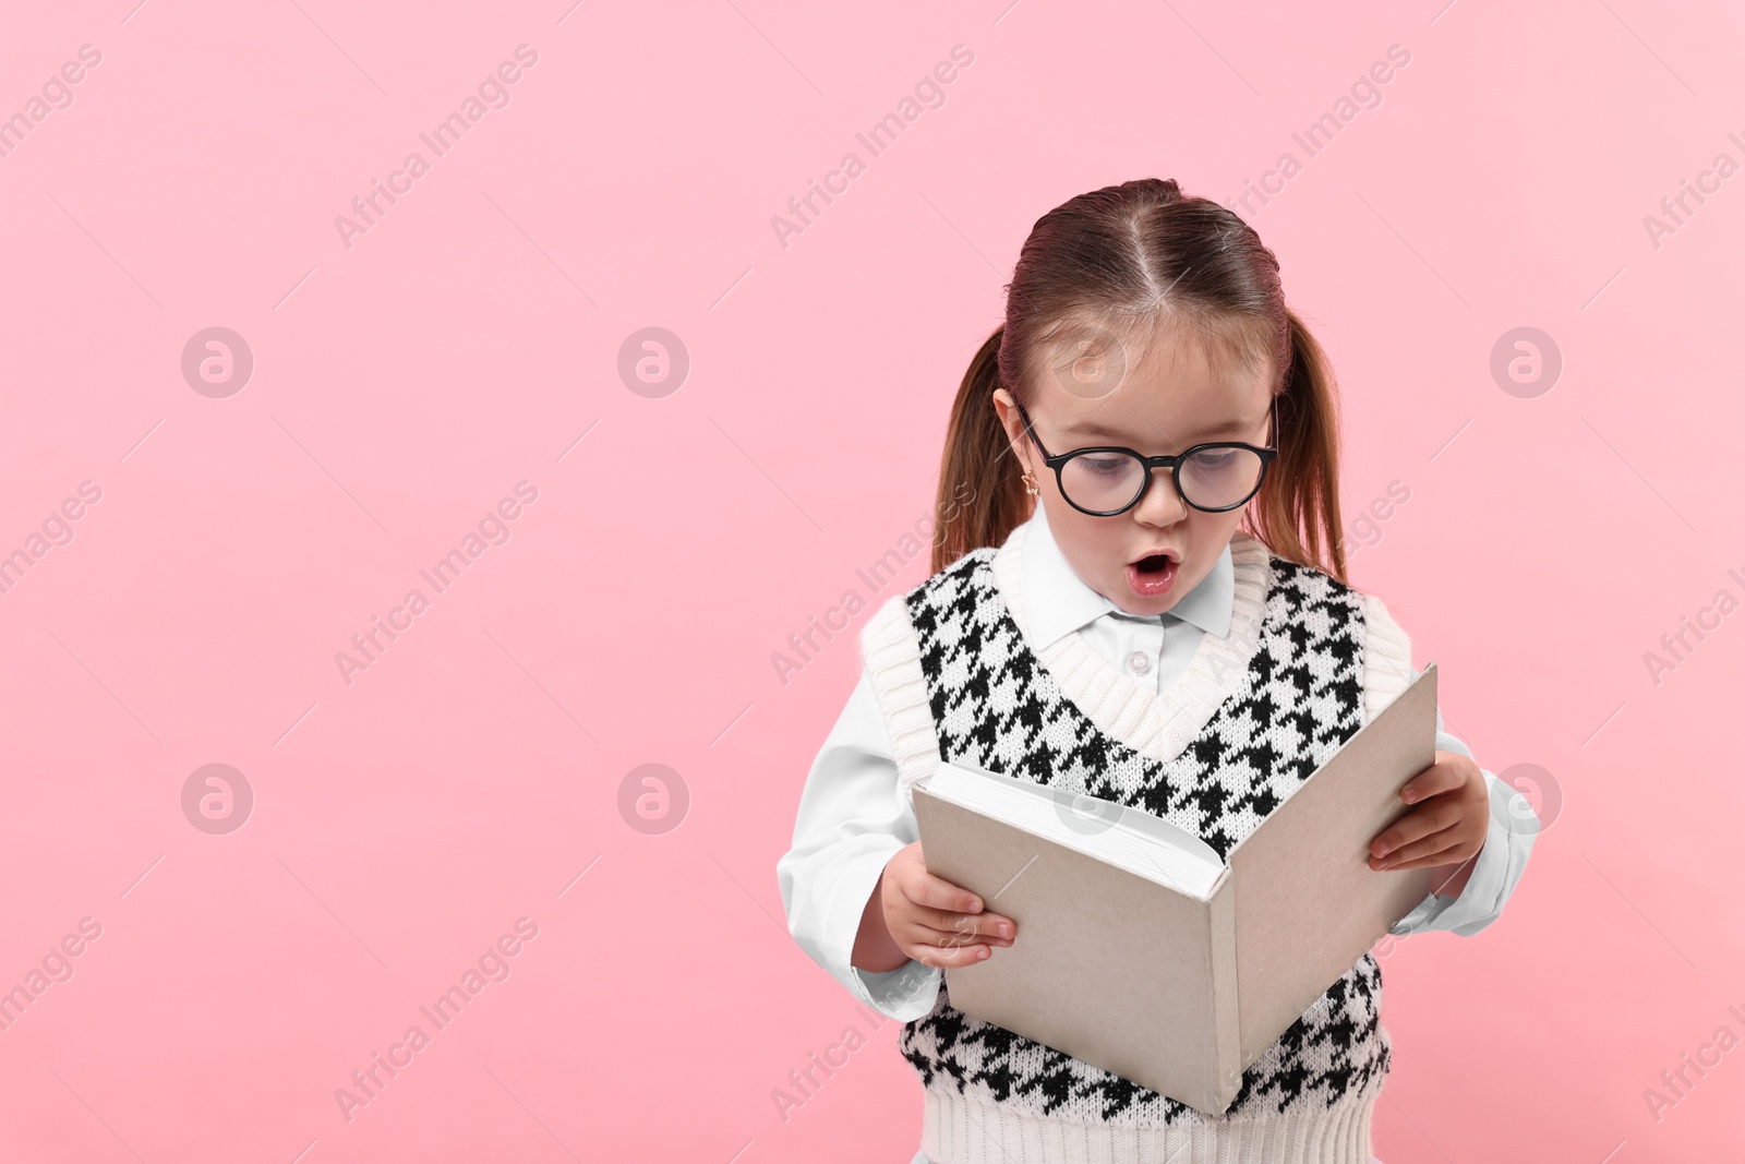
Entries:
{"label": "black and white houndstooth knit vest with cream ribbed trim", "polygon": [[[1373,714],[1373,599],[1246,534],[1230,543],[1230,635],[1206,635],[1162,698],[1077,633],[1038,658],[1021,627],[1024,531],[967,553],[869,623],[906,794],[930,763],[955,759],[1143,808],[1227,857]],[[1386,613],[1377,621],[1398,637]],[[1380,967],[1365,955],[1244,1072],[1220,1117],[967,1016],[946,983],[899,1047],[925,1089],[923,1150],[935,1164],[1368,1164],[1391,1061],[1380,1002]]]}

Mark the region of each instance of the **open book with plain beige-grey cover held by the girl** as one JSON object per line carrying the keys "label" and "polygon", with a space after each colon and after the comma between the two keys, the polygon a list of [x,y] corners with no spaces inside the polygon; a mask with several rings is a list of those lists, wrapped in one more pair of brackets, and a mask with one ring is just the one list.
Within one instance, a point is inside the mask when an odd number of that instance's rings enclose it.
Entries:
{"label": "open book with plain beige-grey cover held by the girl", "polygon": [[951,1005],[1222,1115],[1255,1063],[1431,892],[1370,841],[1436,759],[1436,665],[1230,850],[1143,810],[941,764],[914,782],[935,876],[1012,918]]}

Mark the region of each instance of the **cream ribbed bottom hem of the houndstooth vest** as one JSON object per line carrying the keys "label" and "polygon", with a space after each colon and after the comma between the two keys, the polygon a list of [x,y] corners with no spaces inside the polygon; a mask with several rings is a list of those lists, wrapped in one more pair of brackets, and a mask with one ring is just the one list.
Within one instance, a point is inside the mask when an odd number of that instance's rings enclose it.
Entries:
{"label": "cream ribbed bottom hem of the houndstooth vest", "polygon": [[921,1152],[932,1164],[1370,1164],[1370,1117],[1386,1077],[1331,1108],[1120,1127],[1038,1119],[927,1087]]}

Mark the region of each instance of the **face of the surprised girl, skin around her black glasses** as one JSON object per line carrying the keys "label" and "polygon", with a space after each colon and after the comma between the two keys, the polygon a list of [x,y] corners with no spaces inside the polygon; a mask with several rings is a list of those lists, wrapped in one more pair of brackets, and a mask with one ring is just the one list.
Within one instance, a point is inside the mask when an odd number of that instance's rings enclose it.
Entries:
{"label": "face of the surprised girl, skin around her black glasses", "polygon": [[[1037,438],[1059,455],[1085,445],[1126,445],[1145,455],[1174,455],[1204,442],[1272,440],[1274,373],[1244,370],[1235,359],[1208,359],[1199,342],[1159,342],[1143,354],[1119,346],[1099,358],[1077,347],[1054,349],[1024,401]],[[1188,506],[1167,469],[1152,469],[1145,496],[1126,513],[1092,517],[1068,504],[1054,469],[1024,431],[1012,394],[1000,387],[995,410],[1014,455],[1037,482],[1049,531],[1080,579],[1129,614],[1162,614],[1197,586],[1218,562],[1249,499],[1225,513]],[[1258,496],[1258,494],[1256,494]],[[1099,506],[1101,508],[1101,506]],[[1167,553],[1169,569],[1139,571],[1148,555]]]}

